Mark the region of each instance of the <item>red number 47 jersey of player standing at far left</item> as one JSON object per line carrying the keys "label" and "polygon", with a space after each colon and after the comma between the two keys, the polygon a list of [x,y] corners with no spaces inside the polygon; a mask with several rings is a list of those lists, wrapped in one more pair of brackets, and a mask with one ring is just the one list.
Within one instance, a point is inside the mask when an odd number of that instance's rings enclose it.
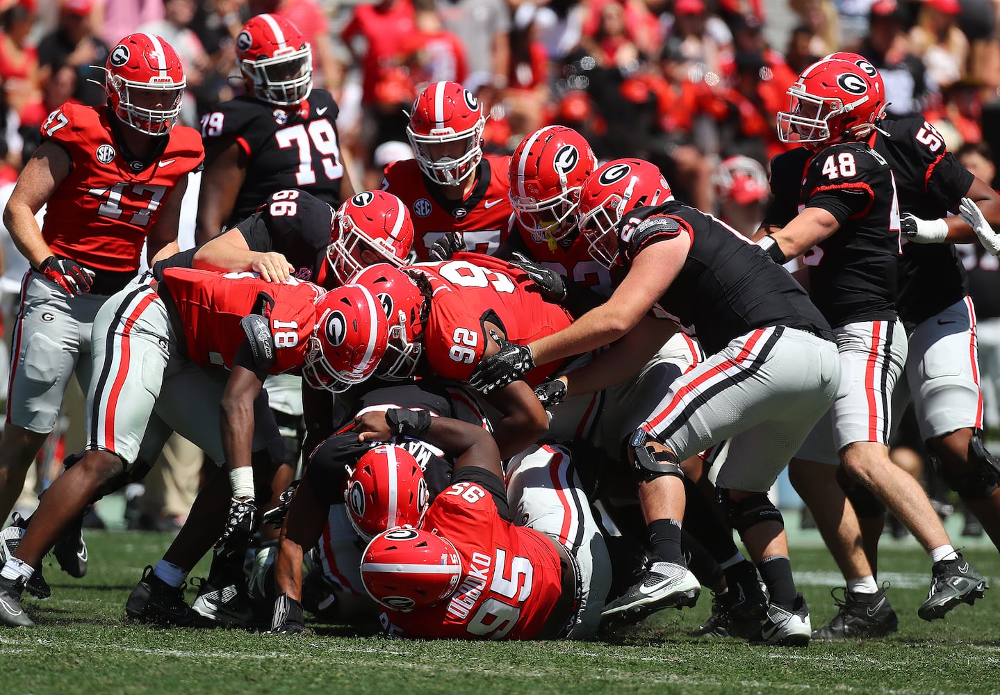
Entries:
{"label": "red number 47 jersey of player standing at far left", "polygon": [[108,118],[117,117],[106,107],[66,103],[42,124],[42,139],[73,163],[48,200],[42,237],[54,253],[89,268],[134,273],[164,199],[201,166],[205,150],[198,131],[175,126],[148,166],[129,161]]}

